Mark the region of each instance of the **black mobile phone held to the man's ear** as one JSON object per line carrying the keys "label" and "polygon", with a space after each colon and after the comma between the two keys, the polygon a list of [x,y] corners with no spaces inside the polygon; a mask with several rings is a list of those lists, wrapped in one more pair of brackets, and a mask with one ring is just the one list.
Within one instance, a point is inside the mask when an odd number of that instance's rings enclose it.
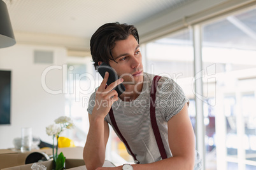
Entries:
{"label": "black mobile phone held to the man's ear", "polygon": [[[105,72],[109,73],[108,81],[107,81],[108,85],[110,85],[114,81],[117,81],[117,79],[118,79],[117,72],[112,67],[110,67],[110,65],[108,65],[104,62],[101,63],[101,65],[98,67],[98,72],[99,72],[99,74],[101,74],[101,77],[103,77],[103,78],[105,76]],[[122,84],[122,83],[118,84],[118,86],[115,87],[115,91],[117,91],[118,96],[122,95],[122,93],[124,93],[124,91],[125,91],[124,84]]]}

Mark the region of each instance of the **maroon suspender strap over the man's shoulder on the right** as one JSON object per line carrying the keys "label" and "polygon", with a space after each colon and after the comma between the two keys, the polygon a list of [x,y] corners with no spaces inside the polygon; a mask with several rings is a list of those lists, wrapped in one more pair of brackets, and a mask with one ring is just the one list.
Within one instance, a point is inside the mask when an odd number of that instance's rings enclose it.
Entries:
{"label": "maroon suspender strap over the man's shoulder on the right", "polygon": [[155,93],[157,92],[157,84],[161,77],[156,75],[153,78],[151,94],[150,94],[150,119],[153,128],[153,133],[155,134],[155,140],[157,141],[157,147],[159,148],[160,155],[162,159],[166,159],[166,150],[164,149],[164,144],[162,143],[162,138],[160,136],[159,128],[157,126],[157,119],[155,117]]}

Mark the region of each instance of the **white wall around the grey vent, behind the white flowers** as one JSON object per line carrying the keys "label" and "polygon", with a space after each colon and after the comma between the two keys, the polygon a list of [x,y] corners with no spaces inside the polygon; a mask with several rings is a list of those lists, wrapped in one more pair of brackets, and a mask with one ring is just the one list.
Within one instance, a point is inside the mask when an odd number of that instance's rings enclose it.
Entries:
{"label": "white wall around the grey vent, behind the white flowers", "polygon": [[[53,65],[66,63],[65,48],[16,44],[0,49],[0,70],[11,70],[11,124],[0,125],[0,149],[13,148],[22,127],[31,127],[34,136],[52,143],[45,127],[64,115],[64,94],[46,93],[41,86],[41,74],[50,65],[34,63],[34,50],[38,49],[53,51]],[[62,70],[50,70],[46,85],[62,89]]]}

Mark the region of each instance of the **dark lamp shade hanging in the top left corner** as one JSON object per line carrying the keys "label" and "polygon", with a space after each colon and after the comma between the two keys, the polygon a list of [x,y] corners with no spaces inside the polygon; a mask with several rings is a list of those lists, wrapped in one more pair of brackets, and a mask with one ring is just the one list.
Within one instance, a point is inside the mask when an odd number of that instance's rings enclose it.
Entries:
{"label": "dark lamp shade hanging in the top left corner", "polygon": [[0,48],[16,44],[6,4],[0,0]]}

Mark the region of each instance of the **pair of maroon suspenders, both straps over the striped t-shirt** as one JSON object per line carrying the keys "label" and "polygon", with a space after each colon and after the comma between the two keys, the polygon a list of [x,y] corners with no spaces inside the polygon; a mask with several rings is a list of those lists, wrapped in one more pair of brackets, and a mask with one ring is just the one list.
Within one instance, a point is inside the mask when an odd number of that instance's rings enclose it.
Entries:
{"label": "pair of maroon suspenders, both straps over the striped t-shirt", "polygon": [[[160,136],[159,128],[157,126],[157,119],[155,117],[155,93],[157,91],[157,84],[158,84],[158,81],[159,81],[160,78],[161,77],[159,75],[156,75],[153,78],[153,82],[152,82],[152,88],[151,88],[151,93],[150,93],[150,119],[151,119],[153,133],[155,134],[155,140],[157,141],[157,146],[159,148],[160,155],[161,155],[162,159],[166,159],[167,158],[166,150],[164,150],[164,144],[162,143],[162,138]],[[139,161],[136,159],[136,156],[133,154],[131,148],[129,147],[129,145],[127,143],[127,141],[125,140],[124,136],[120,133],[120,130],[117,127],[117,122],[115,121],[115,117],[114,117],[114,114],[113,114],[112,107],[110,108],[110,112],[108,114],[110,114],[110,120],[112,122],[112,126],[116,129],[118,135],[120,136],[120,138],[124,142],[125,146],[127,147],[129,152],[131,153],[131,155],[134,159],[134,162],[136,164],[139,164]]]}

